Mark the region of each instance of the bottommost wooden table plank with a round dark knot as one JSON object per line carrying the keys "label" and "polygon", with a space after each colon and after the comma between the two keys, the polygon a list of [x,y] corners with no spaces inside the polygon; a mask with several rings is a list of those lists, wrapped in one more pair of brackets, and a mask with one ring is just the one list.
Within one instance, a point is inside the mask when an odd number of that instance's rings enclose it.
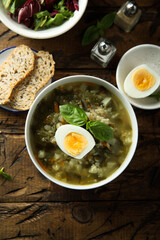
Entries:
{"label": "bottommost wooden table plank with a round dark knot", "polygon": [[0,239],[159,240],[159,202],[3,203]]}

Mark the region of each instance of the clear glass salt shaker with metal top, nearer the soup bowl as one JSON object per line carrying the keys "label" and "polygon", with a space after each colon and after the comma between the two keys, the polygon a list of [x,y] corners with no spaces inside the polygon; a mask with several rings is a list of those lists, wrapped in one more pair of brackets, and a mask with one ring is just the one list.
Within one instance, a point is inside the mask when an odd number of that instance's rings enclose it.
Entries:
{"label": "clear glass salt shaker with metal top, nearer the soup bowl", "polygon": [[90,57],[105,68],[115,55],[116,50],[116,47],[110,41],[100,38],[92,48]]}

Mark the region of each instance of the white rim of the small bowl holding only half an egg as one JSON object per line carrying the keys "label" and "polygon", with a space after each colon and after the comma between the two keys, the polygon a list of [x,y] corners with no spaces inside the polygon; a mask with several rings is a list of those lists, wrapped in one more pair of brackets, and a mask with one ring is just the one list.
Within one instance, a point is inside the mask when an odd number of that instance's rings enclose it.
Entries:
{"label": "white rim of the small bowl holding only half an egg", "polygon": [[125,57],[127,55],[129,55],[130,53],[134,52],[135,50],[139,49],[139,48],[142,48],[142,47],[153,47],[153,48],[157,48],[158,50],[160,50],[160,46],[158,45],[155,45],[155,44],[140,44],[140,45],[137,45],[137,46],[134,46],[132,48],[130,48],[127,52],[125,52],[123,54],[123,56],[121,57],[119,63],[118,63],[118,66],[117,66],[117,69],[116,69],[116,83],[117,83],[117,87],[118,89],[120,90],[121,93],[123,93],[123,95],[128,99],[128,101],[135,107],[137,108],[140,108],[140,109],[144,109],[144,110],[154,110],[154,109],[158,109],[160,108],[160,106],[158,105],[153,105],[153,106],[145,106],[143,104],[139,104],[139,103],[136,103],[134,101],[134,99],[132,100],[132,98],[129,98],[127,97],[127,95],[124,93],[123,91],[123,88],[119,82],[119,74],[120,74],[120,67],[121,67],[121,64],[123,63]]}

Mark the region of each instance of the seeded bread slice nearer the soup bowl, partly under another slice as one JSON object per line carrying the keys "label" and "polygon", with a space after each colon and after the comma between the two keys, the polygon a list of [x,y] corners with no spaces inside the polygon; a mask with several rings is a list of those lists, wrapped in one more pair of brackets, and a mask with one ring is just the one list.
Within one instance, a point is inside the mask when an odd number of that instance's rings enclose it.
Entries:
{"label": "seeded bread slice nearer the soup bowl, partly under another slice", "polygon": [[36,93],[53,77],[54,71],[55,62],[52,55],[39,51],[35,55],[34,70],[13,89],[8,105],[18,110],[28,110]]}

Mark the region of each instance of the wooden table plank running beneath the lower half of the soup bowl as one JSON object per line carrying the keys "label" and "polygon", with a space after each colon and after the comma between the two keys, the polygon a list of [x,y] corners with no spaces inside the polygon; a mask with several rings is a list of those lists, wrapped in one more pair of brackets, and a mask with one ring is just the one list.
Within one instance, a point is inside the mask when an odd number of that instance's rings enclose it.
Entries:
{"label": "wooden table plank running beneath the lower half of the soup bowl", "polygon": [[[160,136],[141,134],[135,156],[112,183],[90,191],[73,191],[47,180],[28,156],[23,135],[1,136],[0,166],[13,177],[0,178],[0,202],[158,200]],[[152,149],[152,150],[151,150]]]}

